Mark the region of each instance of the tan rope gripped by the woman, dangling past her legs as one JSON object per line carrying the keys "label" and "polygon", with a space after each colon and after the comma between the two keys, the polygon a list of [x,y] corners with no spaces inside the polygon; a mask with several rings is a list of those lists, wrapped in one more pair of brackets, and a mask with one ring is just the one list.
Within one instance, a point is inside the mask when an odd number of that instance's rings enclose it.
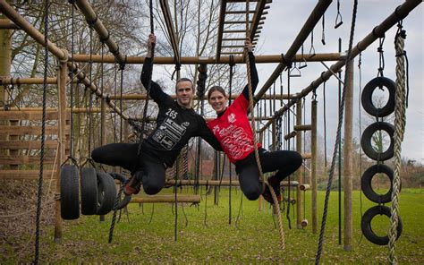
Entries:
{"label": "tan rope gripped by the woman, dangling past her legs", "polygon": [[[246,1],[246,37],[249,37],[249,0]],[[256,135],[256,121],[255,121],[255,112],[253,107],[253,89],[251,87],[251,76],[250,76],[250,61],[249,61],[249,53],[248,50],[245,50],[244,53],[245,60],[246,60],[246,68],[247,68],[247,77],[248,77],[248,88],[249,88],[249,109],[250,109],[250,126],[253,131],[253,146],[255,148],[255,158],[256,158],[256,164],[258,165],[259,175],[260,179],[262,181],[262,191],[265,190],[265,185],[267,184],[265,182],[264,173],[262,171],[262,165],[260,164],[260,158],[259,158],[259,151],[258,151],[258,139]],[[281,218],[281,211],[280,211],[280,205],[276,199],[276,193],[274,192],[274,189],[271,187],[270,184],[267,184],[269,191],[271,192],[273,201],[274,201],[274,209],[277,215],[278,219],[278,230],[280,234],[280,246],[282,249],[285,248],[284,244],[284,229],[283,229],[283,221]]]}

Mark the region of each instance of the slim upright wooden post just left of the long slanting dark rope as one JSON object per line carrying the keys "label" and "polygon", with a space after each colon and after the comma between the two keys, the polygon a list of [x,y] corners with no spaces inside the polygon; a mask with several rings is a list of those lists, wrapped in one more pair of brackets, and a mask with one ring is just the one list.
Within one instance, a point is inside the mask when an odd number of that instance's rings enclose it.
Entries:
{"label": "slim upright wooden post just left of the long slanting dark rope", "polygon": [[318,182],[317,182],[317,100],[312,101],[311,107],[311,121],[312,125],[310,131],[310,152],[312,154],[310,158],[310,185],[312,190],[311,206],[312,206],[312,233],[317,234],[318,227],[318,213],[317,213],[317,194],[318,194]]}

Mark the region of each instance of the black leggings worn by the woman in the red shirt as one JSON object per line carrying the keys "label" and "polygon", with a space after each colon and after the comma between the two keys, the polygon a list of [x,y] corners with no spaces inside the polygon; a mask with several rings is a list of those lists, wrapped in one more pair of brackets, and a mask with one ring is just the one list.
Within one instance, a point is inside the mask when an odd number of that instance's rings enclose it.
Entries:
{"label": "black leggings worn by the woman in the red shirt", "polygon": [[[284,180],[285,177],[291,175],[299,167],[301,167],[301,155],[296,151],[279,150],[268,152],[266,150],[259,151],[260,164],[262,172],[276,171],[276,179]],[[240,188],[244,195],[250,200],[257,200],[262,194],[262,184],[258,166],[256,164],[255,152],[253,151],[247,158],[237,162],[236,170],[239,174]]]}

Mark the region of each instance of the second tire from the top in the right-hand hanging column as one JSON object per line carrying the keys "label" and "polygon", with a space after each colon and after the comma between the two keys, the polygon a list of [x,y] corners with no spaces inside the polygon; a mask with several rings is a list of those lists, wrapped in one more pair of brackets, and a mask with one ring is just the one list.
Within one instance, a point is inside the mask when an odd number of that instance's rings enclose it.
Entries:
{"label": "second tire from the top in the right-hand hanging column", "polygon": [[[390,136],[390,146],[385,152],[377,152],[371,145],[372,134],[377,131],[386,131]],[[367,157],[376,160],[376,161],[386,161],[387,159],[393,158],[394,156],[394,125],[388,124],[385,122],[378,122],[370,124],[362,133],[360,138],[360,146],[362,150],[367,155]]]}

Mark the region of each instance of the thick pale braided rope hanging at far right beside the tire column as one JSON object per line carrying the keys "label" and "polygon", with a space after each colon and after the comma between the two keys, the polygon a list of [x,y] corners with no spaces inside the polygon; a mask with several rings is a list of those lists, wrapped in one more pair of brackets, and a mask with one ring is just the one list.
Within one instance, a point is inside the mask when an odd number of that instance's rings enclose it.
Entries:
{"label": "thick pale braided rope hanging at far right beside the tire column", "polygon": [[396,92],[394,105],[394,177],[392,191],[392,208],[390,217],[389,237],[389,261],[391,264],[397,264],[396,258],[396,238],[397,226],[399,222],[399,190],[401,188],[401,151],[403,133],[406,124],[406,90],[405,90],[405,58],[404,58],[404,38],[405,31],[402,30],[402,21],[398,23],[398,31],[394,38],[394,49],[396,52]]}

